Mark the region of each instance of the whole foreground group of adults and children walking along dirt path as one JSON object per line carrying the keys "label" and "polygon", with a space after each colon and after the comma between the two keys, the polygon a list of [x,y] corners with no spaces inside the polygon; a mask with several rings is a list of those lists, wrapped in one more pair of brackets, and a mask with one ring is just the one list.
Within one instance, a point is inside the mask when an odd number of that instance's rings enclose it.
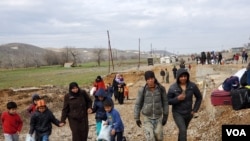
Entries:
{"label": "whole foreground group of adults and children walking along dirt path", "polygon": [[[168,75],[168,77],[166,76]],[[169,83],[169,74],[165,69],[166,83]],[[199,110],[202,96],[195,85],[190,81],[190,74],[186,69],[176,71],[176,82],[168,90],[161,85],[153,71],[144,74],[146,84],[138,90],[134,105],[134,119],[138,127],[144,130],[147,141],[162,141],[163,126],[167,124],[169,105],[172,105],[174,121],[179,129],[178,140],[187,140],[187,129],[193,115]],[[124,123],[115,109],[112,100],[123,104],[124,79],[117,74],[109,87],[104,87],[102,78],[97,77],[94,100],[87,92],[78,86],[78,83],[69,84],[68,93],[64,96],[61,119],[57,119],[46,106],[46,102],[39,95],[32,96],[32,104],[27,108],[30,115],[30,137],[35,135],[35,141],[48,141],[52,132],[52,124],[62,127],[68,121],[72,132],[72,141],[87,141],[89,132],[88,114],[95,113],[96,135],[99,136],[102,126],[110,125],[110,140],[124,141]],[[113,91],[112,91],[113,90]],[[193,96],[196,98],[193,104]],[[2,123],[5,141],[18,141],[23,122],[16,113],[17,104],[7,103],[7,111],[2,113]],[[106,121],[103,125],[102,121]],[[98,138],[101,140],[101,138]]]}

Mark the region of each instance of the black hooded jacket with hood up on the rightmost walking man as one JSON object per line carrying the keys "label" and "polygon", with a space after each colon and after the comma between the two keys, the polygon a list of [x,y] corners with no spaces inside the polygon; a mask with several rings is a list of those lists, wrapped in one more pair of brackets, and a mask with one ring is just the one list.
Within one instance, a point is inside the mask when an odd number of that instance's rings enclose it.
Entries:
{"label": "black hooded jacket with hood up on the rightmost walking man", "polygon": [[[182,74],[187,74],[186,97],[180,101],[177,97],[182,93],[179,78]],[[193,96],[196,100],[193,106]],[[176,72],[176,83],[172,84],[168,90],[168,103],[172,105],[172,112],[180,114],[190,114],[192,111],[197,112],[200,108],[202,95],[195,83],[190,81],[190,75],[184,68],[180,68]]]}

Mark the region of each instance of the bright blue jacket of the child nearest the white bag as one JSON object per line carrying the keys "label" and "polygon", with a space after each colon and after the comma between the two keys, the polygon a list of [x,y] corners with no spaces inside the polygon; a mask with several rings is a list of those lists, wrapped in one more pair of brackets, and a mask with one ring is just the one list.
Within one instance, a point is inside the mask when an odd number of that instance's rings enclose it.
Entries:
{"label": "bright blue jacket of the child nearest the white bag", "polygon": [[123,132],[124,125],[122,119],[120,117],[119,112],[112,108],[110,112],[107,112],[107,121],[108,124],[111,125],[112,129],[115,129],[115,132]]}

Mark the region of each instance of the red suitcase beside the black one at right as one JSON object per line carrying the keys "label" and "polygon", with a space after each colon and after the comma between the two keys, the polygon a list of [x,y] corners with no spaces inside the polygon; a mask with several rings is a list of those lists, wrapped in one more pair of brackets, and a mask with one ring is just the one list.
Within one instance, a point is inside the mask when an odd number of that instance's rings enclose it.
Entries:
{"label": "red suitcase beside the black one at right", "polygon": [[215,89],[211,93],[211,103],[217,105],[232,105],[230,92]]}

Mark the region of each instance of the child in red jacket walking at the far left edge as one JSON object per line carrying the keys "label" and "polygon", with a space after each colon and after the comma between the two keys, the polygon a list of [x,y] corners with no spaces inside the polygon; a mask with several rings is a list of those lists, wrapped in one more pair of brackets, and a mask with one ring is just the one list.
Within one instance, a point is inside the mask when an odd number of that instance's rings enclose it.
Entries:
{"label": "child in red jacket walking at the far left edge", "polygon": [[8,102],[7,111],[3,112],[1,116],[4,138],[7,141],[18,141],[23,127],[23,121],[16,113],[16,109],[15,102]]}

